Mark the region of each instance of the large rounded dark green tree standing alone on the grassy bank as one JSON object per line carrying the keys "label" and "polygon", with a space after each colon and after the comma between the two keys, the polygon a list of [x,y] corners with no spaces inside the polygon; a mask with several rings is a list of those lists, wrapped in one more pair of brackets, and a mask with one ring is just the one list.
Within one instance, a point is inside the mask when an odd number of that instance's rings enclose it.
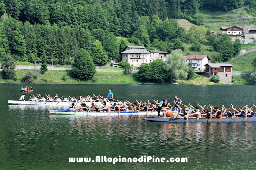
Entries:
{"label": "large rounded dark green tree standing alone on the grassy bank", "polygon": [[82,80],[90,80],[96,73],[95,69],[96,67],[89,52],[81,48],[76,54],[75,61],[72,65],[72,75]]}

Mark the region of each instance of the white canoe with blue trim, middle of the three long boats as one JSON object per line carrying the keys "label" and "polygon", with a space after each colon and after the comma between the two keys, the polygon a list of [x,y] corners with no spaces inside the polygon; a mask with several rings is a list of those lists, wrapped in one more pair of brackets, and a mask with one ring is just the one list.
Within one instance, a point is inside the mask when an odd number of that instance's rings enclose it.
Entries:
{"label": "white canoe with blue trim, middle of the three long boats", "polygon": [[[57,115],[87,115],[87,111],[85,112],[81,112],[81,111],[70,111],[70,110],[49,110],[49,113],[52,114],[57,114]],[[162,115],[163,112],[160,112],[160,114]],[[89,112],[88,115],[138,115],[138,112],[124,112],[124,111],[120,111],[120,113],[118,114],[118,112],[105,112],[105,111],[99,111],[98,113],[93,111],[93,112]],[[139,115],[147,115],[147,112],[143,112],[140,111]],[[148,112],[148,115],[158,115],[158,113],[156,111],[153,111],[151,113]]]}

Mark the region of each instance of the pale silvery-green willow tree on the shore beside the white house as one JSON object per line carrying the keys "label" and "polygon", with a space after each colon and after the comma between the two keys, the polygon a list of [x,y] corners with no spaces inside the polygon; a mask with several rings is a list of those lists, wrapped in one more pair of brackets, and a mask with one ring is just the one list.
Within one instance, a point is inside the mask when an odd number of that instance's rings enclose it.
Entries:
{"label": "pale silvery-green willow tree on the shore beside the white house", "polygon": [[182,51],[176,49],[172,51],[167,57],[164,69],[167,71],[171,83],[175,78],[186,79],[188,77],[188,65],[185,63],[186,58],[183,57]]}

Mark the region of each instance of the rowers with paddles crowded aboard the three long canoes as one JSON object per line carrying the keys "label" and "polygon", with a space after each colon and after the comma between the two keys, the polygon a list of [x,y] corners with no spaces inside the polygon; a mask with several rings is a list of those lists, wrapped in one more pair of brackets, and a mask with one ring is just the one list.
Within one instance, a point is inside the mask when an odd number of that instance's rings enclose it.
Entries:
{"label": "rowers with paddles crowded aboard the three long canoes", "polygon": [[[89,95],[87,97],[84,96],[80,96],[80,99],[78,100],[75,96],[70,97],[68,96],[68,98],[65,97],[59,97],[57,94],[55,95],[55,97],[51,97],[49,94],[46,95],[47,99],[45,99],[43,96],[41,96],[40,94],[37,94],[37,96],[34,96],[33,94],[31,94],[33,97],[29,100],[33,100],[33,101],[47,101],[47,102],[70,102],[70,108],[69,110],[80,110],[80,111],[105,111],[105,112],[119,112],[119,111],[132,111],[132,112],[140,112],[140,111],[157,111],[158,112],[158,117],[160,117],[160,112],[163,112],[163,117],[166,117],[168,111],[170,110],[174,110],[174,114],[177,115],[177,118],[187,118],[188,116],[192,116],[192,117],[217,117],[217,118],[224,118],[224,117],[245,117],[247,115],[247,117],[255,117],[255,114],[253,112],[253,107],[248,107],[247,105],[242,107],[238,107],[238,109],[236,109],[236,107],[234,107],[232,104],[229,108],[224,107],[224,105],[222,105],[221,109],[219,107],[214,107],[209,105],[209,109],[208,107],[205,108],[206,106],[204,105],[204,107],[202,107],[201,105],[197,104],[197,106],[192,106],[190,104],[188,104],[188,106],[182,104],[182,100],[180,100],[180,98],[177,97],[177,95],[174,96],[174,105],[171,106],[171,103],[167,103],[166,99],[163,99],[162,101],[156,101],[154,100],[152,103],[148,100],[148,103],[144,102],[142,103],[142,101],[138,102],[138,100],[136,100],[136,102],[131,103],[130,101],[118,101],[116,100],[116,102],[113,102],[113,95],[111,96],[111,98],[105,98],[104,96],[95,96],[93,94],[92,97],[90,97]],[[24,96],[25,94],[23,94],[20,97],[20,100],[24,100]],[[94,98],[95,97],[95,98]],[[70,98],[70,100],[69,100]],[[25,100],[24,100],[25,101]],[[91,103],[91,105],[89,106],[88,103]],[[101,102],[100,106],[97,106],[95,104],[95,102]],[[110,106],[107,106],[107,102],[110,103]],[[77,103],[81,103],[81,107],[76,107]],[[79,104],[78,104],[79,105]],[[77,106],[78,106],[77,105]],[[127,106],[128,105],[128,106]],[[185,107],[182,107],[185,106]],[[130,108],[129,108],[130,107]],[[255,106],[256,107],[256,106]],[[189,108],[189,109],[188,109]],[[201,108],[201,111],[200,111]],[[233,114],[230,111],[230,108],[233,111]],[[245,108],[245,109],[244,109]],[[192,109],[192,110],[191,110]],[[209,110],[211,109],[212,112],[210,112]],[[243,110],[244,109],[244,110]],[[176,114],[177,113],[177,114]]]}

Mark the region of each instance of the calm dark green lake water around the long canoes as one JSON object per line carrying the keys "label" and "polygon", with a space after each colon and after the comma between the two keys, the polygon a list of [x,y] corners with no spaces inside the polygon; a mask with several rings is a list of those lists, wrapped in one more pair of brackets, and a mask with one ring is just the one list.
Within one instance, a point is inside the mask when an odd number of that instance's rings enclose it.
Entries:
{"label": "calm dark green lake water around the long canoes", "polygon": [[[145,122],[142,116],[52,115],[45,106],[8,105],[20,85],[0,85],[0,169],[255,169],[256,125]],[[117,100],[162,100],[221,107],[256,105],[256,86],[229,85],[37,85],[33,94],[92,93]],[[25,99],[29,99],[26,95]],[[58,107],[60,108],[60,107]],[[255,111],[255,110],[254,110]],[[69,163],[69,157],[187,157],[188,163]]]}

